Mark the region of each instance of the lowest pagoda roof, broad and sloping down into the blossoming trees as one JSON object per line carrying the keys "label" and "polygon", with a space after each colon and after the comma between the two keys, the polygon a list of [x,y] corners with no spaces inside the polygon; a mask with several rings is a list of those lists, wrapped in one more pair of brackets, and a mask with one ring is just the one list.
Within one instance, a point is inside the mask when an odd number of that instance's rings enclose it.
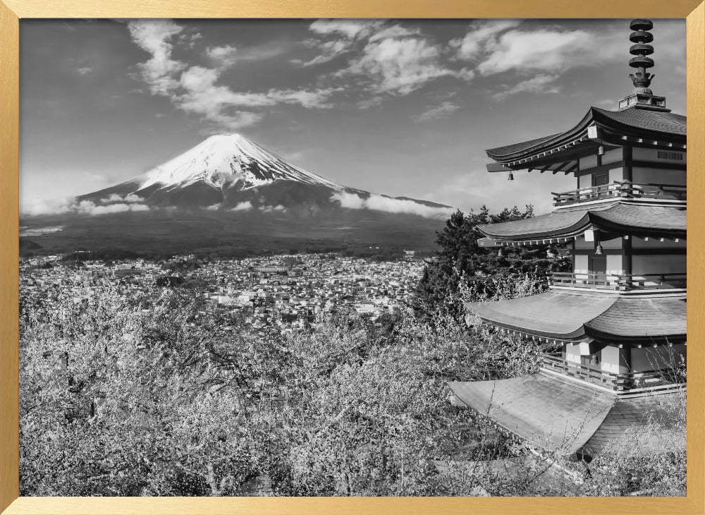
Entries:
{"label": "lowest pagoda roof, broad and sloping down into the blossoming trees", "polygon": [[[538,447],[562,456],[577,452],[599,454],[629,428],[648,423],[650,413],[672,413],[676,396],[682,395],[669,392],[618,399],[542,373],[448,385],[466,406]],[[634,450],[642,455],[658,450],[649,442],[635,442],[637,445],[639,448]]]}

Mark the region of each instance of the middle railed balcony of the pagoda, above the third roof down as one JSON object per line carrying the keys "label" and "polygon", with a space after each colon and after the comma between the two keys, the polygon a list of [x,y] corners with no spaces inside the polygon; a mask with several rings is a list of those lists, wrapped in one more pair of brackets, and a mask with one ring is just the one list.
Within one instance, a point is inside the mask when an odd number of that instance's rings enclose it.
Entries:
{"label": "middle railed balcony of the pagoda, above the third roof down", "polygon": [[687,289],[687,275],[553,272],[548,284],[551,287],[608,291]]}

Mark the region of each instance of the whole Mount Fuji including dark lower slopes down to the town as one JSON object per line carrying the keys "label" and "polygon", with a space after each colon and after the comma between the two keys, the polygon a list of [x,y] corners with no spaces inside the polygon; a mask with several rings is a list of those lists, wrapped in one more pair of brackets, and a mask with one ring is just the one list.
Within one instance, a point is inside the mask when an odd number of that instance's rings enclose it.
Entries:
{"label": "whole Mount Fuji including dark lower slopes down to the town", "polygon": [[59,210],[23,215],[21,238],[28,252],[44,253],[360,255],[432,250],[436,231],[452,212],[435,202],[341,186],[243,135],[224,134],[145,174],[68,200]]}

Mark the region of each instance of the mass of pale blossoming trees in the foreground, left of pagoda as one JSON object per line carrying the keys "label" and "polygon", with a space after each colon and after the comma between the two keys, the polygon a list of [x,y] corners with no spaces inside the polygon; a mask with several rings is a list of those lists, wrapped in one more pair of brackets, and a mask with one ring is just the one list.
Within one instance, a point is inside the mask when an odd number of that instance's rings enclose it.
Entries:
{"label": "mass of pale blossoming trees in the foreground, left of pagoda", "polygon": [[183,289],[147,313],[52,303],[23,307],[23,495],[242,495],[263,476],[281,495],[468,495],[477,481],[451,488],[434,462],[509,452],[448,403],[448,380],[525,372],[526,347],[487,329],[341,313],[286,336],[223,332],[233,320]]}

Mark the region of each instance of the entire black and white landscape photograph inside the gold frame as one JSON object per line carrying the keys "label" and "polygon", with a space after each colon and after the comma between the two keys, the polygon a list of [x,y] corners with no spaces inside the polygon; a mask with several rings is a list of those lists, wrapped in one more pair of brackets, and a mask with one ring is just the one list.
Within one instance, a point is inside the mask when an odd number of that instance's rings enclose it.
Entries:
{"label": "entire black and white landscape photograph inside the gold frame", "polygon": [[687,495],[685,19],[19,25],[21,496]]}

